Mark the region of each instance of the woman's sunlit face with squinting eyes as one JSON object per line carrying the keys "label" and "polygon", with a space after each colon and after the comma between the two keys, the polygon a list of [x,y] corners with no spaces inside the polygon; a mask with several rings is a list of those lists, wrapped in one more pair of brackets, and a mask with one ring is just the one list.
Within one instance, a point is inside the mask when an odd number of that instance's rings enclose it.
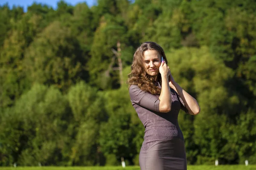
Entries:
{"label": "woman's sunlit face with squinting eyes", "polygon": [[147,50],[144,52],[145,71],[148,75],[155,79],[159,74],[159,67],[161,65],[161,56],[156,50]]}

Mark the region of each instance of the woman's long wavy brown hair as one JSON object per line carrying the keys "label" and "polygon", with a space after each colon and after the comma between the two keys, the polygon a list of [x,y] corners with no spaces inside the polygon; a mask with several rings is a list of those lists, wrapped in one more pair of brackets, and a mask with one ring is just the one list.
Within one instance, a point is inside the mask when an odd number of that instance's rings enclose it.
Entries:
{"label": "woman's long wavy brown hair", "polygon": [[[163,48],[155,42],[144,42],[134,53],[133,62],[131,64],[131,73],[128,74],[127,84],[130,88],[131,85],[138,85],[138,87],[151,94],[160,94],[161,89],[156,85],[154,77],[147,74],[144,64],[144,52],[147,50],[155,50],[160,56],[163,56],[167,62],[166,55]],[[157,75],[157,81],[162,83],[160,74]]]}

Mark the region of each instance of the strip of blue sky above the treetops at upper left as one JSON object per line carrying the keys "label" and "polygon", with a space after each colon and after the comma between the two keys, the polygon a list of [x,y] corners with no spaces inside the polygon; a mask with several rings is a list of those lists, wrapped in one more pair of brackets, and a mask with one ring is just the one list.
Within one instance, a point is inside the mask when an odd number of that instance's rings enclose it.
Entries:
{"label": "strip of blue sky above the treetops at upper left", "polygon": [[[48,6],[52,6],[54,9],[57,6],[57,3],[60,0],[0,0],[0,6],[8,3],[9,7],[12,8],[13,5],[15,6],[22,6],[26,11],[27,6],[31,6],[32,3],[42,3],[47,4]],[[66,3],[75,6],[77,3],[86,2],[88,6],[93,6],[96,4],[97,0],[64,0]]]}

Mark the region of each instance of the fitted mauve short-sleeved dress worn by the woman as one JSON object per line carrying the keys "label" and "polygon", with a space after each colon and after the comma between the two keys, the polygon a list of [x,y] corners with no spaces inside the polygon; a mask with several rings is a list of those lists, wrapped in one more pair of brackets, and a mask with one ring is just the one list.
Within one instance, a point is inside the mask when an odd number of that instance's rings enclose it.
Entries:
{"label": "fitted mauve short-sleeved dress worn by the woman", "polygon": [[139,156],[141,170],[186,170],[186,151],[178,114],[180,109],[186,113],[188,110],[180,96],[171,88],[172,109],[161,113],[159,95],[142,91],[137,85],[131,85],[129,93],[145,127]]}

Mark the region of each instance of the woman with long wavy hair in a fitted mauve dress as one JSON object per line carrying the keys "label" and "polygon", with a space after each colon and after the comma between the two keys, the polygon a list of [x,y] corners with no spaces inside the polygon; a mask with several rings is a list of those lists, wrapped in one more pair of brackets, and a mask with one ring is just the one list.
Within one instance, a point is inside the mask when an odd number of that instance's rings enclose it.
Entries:
{"label": "woman with long wavy hair in a fitted mauve dress", "polygon": [[180,109],[196,115],[200,107],[175,82],[167,63],[160,45],[144,42],[134,54],[128,76],[131,102],[145,127],[141,170],[186,170],[184,139],[177,118]]}

